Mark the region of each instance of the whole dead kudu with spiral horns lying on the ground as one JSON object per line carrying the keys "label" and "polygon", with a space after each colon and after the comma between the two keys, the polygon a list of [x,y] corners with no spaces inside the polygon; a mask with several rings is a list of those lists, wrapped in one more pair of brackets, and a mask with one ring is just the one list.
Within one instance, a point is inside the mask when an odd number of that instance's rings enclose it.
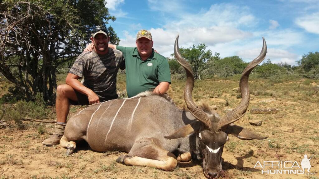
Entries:
{"label": "whole dead kudu with spiral horns lying on the ground", "polygon": [[241,140],[267,138],[233,124],[249,105],[248,77],[266,56],[264,39],[260,55],[242,73],[241,103],[222,118],[207,106],[193,102],[193,72],[179,52],[178,36],[174,51],[187,73],[184,99],[189,111],[177,108],[168,98],[150,93],[89,106],[70,118],[65,127],[61,145],[67,148],[67,155],[75,149],[74,141],[86,140],[95,151],[127,152],[116,160],[125,165],[169,171],[176,167],[177,161],[202,159],[204,175],[217,178],[223,175],[221,155],[228,134]]}

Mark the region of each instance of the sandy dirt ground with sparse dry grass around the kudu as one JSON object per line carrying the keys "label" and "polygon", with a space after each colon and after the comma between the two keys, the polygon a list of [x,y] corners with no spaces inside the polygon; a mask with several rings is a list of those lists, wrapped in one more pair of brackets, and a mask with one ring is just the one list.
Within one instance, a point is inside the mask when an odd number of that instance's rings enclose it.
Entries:
{"label": "sandy dirt ground with sparse dry grass around the kudu", "polygon": [[[194,89],[195,101],[204,100],[210,105],[217,105],[217,112],[223,116],[224,107],[235,107],[240,98],[233,91],[238,82],[204,81],[203,84],[214,86],[210,90]],[[177,83],[176,83],[177,84]],[[212,91],[220,91],[216,86],[228,86],[219,95]],[[305,84],[303,81],[266,84],[251,82],[251,100],[246,115],[236,122],[237,125],[251,131],[268,136],[266,140],[239,140],[229,136],[223,152],[226,179],[297,179],[319,178],[319,104],[318,94],[309,93],[317,83]],[[197,86],[201,86],[198,84]],[[204,86],[204,85],[202,85]],[[174,86],[169,90],[177,105],[182,106],[181,91],[183,87]],[[258,90],[272,94],[258,95]],[[196,91],[203,91],[198,93]],[[266,96],[265,96],[266,95]],[[227,104],[226,104],[227,103]],[[252,114],[253,108],[277,108],[277,114]],[[83,107],[72,108],[71,113]],[[72,114],[71,114],[72,115]],[[262,120],[261,126],[253,126],[249,120]],[[30,123],[26,130],[14,127],[0,129],[0,179],[11,178],[205,178],[201,163],[178,163],[172,172],[150,167],[125,166],[115,160],[121,152],[99,153],[92,151],[82,142],[78,150],[65,156],[66,149],[60,145],[46,147],[41,142],[53,132],[53,124]],[[40,134],[39,126],[44,126],[44,134]],[[306,174],[262,174],[263,170],[271,169],[255,167],[259,161],[297,161],[300,165],[304,154],[313,157],[310,160],[310,173]],[[269,162],[266,164],[269,164]],[[258,166],[258,165],[257,165]],[[287,167],[291,167],[288,164]],[[272,168],[272,170],[278,167]],[[280,167],[280,169],[283,169]],[[300,169],[295,168],[294,169]],[[301,168],[302,170],[302,168]],[[307,170],[307,169],[306,169]],[[306,172],[307,173],[307,172]]]}

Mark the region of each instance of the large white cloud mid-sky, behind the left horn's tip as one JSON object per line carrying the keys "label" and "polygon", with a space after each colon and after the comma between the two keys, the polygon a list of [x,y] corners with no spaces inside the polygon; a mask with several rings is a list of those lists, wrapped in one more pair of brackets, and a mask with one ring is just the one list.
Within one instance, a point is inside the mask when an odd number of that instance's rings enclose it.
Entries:
{"label": "large white cloud mid-sky, behind the left horn's tip", "polygon": [[[149,2],[159,3],[156,0]],[[237,39],[251,37],[253,34],[240,30],[240,26],[255,25],[256,19],[247,7],[231,4],[214,4],[208,11],[197,14],[181,13],[179,20],[169,20],[163,28],[150,29],[154,48],[164,56],[173,53],[174,40],[180,33],[179,44],[190,47],[192,44],[205,43],[215,46]]]}

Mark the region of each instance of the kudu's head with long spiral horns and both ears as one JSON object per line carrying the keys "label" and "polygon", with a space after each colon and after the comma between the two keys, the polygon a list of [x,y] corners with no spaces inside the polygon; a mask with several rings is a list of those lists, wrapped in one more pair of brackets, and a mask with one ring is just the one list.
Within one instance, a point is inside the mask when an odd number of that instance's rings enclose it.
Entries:
{"label": "kudu's head with long spiral horns and both ears", "polygon": [[224,144],[228,134],[233,134],[241,140],[266,139],[248,129],[233,123],[240,119],[247,110],[249,105],[249,87],[248,77],[250,72],[260,63],[266,56],[267,47],[263,38],[263,48],[259,56],[251,61],[242,73],[239,87],[241,92],[241,103],[232,111],[229,111],[223,118],[211,111],[210,114],[203,111],[192,100],[192,90],[194,87],[194,76],[189,63],[182,57],[178,47],[178,37],[175,40],[174,52],[177,61],[185,68],[187,79],[184,89],[184,99],[189,112],[197,119],[197,121],[185,125],[175,131],[173,134],[166,136],[166,139],[177,139],[187,137],[193,133],[200,138],[200,152],[203,159],[204,175],[207,178],[218,178],[223,175],[221,165],[221,155],[223,153]]}

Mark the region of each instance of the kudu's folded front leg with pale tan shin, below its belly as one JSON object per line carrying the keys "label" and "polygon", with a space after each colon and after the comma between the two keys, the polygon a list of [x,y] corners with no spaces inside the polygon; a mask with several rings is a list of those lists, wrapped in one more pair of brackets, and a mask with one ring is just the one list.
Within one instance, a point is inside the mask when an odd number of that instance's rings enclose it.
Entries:
{"label": "kudu's folded front leg with pale tan shin, below its belly", "polygon": [[137,141],[129,154],[121,155],[116,161],[125,165],[148,166],[166,171],[173,170],[177,165],[174,154],[148,139]]}

